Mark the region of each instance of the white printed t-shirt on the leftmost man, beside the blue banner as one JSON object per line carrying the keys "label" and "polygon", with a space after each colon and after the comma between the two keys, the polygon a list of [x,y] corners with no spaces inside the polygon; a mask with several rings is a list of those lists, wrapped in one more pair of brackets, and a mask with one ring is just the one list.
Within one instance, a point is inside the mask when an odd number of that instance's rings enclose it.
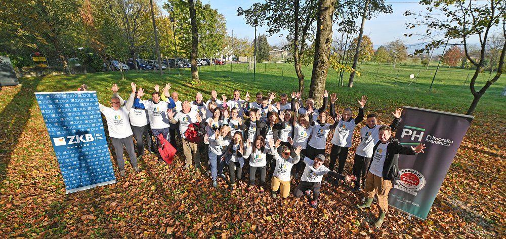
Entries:
{"label": "white printed t-shirt on the leftmost man, beside the blue banner", "polygon": [[123,139],[133,135],[130,127],[128,111],[125,107],[114,110],[112,107],[101,110],[107,120],[109,136],[116,139]]}

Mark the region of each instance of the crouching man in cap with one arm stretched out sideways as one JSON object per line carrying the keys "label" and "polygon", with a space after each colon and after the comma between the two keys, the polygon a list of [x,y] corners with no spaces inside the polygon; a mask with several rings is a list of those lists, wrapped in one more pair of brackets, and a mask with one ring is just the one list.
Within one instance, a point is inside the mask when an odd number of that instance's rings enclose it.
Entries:
{"label": "crouching man in cap with one arm stretched out sideways", "polygon": [[328,174],[336,179],[344,179],[346,181],[355,180],[355,176],[353,175],[343,176],[342,174],[330,171],[327,167],[323,166],[324,161],[325,156],[323,156],[323,154],[316,155],[314,161],[308,157],[304,157],[306,168],[304,169],[299,186],[297,186],[293,192],[295,197],[300,198],[304,194],[304,191],[308,196],[311,191],[313,191],[313,199],[310,203],[313,208],[318,206],[318,197],[320,196],[320,187],[323,175]]}

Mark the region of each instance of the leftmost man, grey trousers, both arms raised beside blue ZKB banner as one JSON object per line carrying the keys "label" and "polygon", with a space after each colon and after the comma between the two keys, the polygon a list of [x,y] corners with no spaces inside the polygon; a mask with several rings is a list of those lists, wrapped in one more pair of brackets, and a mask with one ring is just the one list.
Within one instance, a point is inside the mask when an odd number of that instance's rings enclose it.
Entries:
{"label": "leftmost man, grey trousers, both arms raised beside blue ZKB banner", "polygon": [[[111,137],[112,146],[116,151],[116,161],[118,163],[119,175],[125,176],[125,161],[123,157],[123,146],[126,148],[126,152],[130,157],[130,163],[136,173],[141,170],[137,167],[137,156],[135,155],[134,149],[134,138],[132,129],[130,128],[129,111],[134,103],[134,97],[136,92],[136,86],[131,83],[132,93],[125,102],[124,106],[121,106],[119,97],[113,96],[111,98],[111,107],[107,108],[103,104],[99,103],[100,112],[104,114],[107,121],[107,130],[109,131],[109,137]],[[119,90],[118,85],[112,85],[112,92],[117,95]]]}

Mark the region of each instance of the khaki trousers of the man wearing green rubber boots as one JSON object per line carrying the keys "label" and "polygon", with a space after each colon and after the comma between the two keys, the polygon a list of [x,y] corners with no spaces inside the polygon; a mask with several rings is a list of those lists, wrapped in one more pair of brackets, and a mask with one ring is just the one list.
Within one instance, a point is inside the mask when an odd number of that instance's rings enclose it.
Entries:
{"label": "khaki trousers of the man wearing green rubber boots", "polygon": [[385,213],[388,211],[388,193],[390,189],[392,189],[392,181],[383,180],[382,177],[370,172],[367,173],[364,188],[365,197],[374,198],[374,195],[377,195],[379,210]]}

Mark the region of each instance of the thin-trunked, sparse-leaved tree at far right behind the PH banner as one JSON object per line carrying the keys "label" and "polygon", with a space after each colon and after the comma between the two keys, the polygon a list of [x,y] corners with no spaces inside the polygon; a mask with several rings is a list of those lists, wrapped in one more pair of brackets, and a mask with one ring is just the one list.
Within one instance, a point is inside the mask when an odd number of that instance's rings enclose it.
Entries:
{"label": "thin-trunked, sparse-leaved tree at far right behind the PH banner", "polygon": [[[418,49],[415,53],[428,52],[432,47],[439,47],[449,40],[455,39],[464,47],[464,53],[468,61],[476,67],[471,77],[469,88],[473,94],[473,102],[466,114],[472,115],[488,88],[497,82],[504,71],[504,56],[506,55],[506,41],[503,43],[497,64],[497,73],[489,79],[481,89],[476,88],[476,79],[483,70],[486,61],[487,43],[490,41],[491,31],[500,29],[501,34],[506,38],[506,2],[504,0],[490,0],[483,2],[476,1],[446,1],[446,0],[422,0],[421,5],[426,6],[426,13],[407,11],[405,16],[421,17],[413,24],[408,24],[408,28],[417,26],[426,26],[426,38],[432,38],[432,32],[442,31],[445,38],[439,41],[432,41],[423,49]],[[420,18],[415,18],[420,19]],[[412,34],[408,34],[411,36]],[[478,38],[480,56],[471,57],[469,39]]]}

